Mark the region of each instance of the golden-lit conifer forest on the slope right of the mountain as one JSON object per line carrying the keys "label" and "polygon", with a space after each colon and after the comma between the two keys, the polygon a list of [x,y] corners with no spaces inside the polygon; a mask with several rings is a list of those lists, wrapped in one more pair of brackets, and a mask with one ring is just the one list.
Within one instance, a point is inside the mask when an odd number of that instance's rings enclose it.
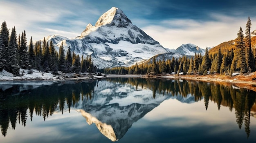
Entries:
{"label": "golden-lit conifer forest on the slope right of the mountain", "polygon": [[[204,56],[195,53],[195,56],[172,59],[162,59],[156,61],[156,56],[150,62],[135,64],[130,67],[114,67],[104,69],[105,74],[199,74],[218,73],[221,75],[232,75],[234,72],[250,73],[256,71],[256,49],[252,48],[251,37],[252,22],[248,17],[245,35],[240,27],[236,40],[223,42],[211,48],[206,48]],[[255,39],[255,38],[254,38]],[[208,72],[209,71],[209,72]]]}

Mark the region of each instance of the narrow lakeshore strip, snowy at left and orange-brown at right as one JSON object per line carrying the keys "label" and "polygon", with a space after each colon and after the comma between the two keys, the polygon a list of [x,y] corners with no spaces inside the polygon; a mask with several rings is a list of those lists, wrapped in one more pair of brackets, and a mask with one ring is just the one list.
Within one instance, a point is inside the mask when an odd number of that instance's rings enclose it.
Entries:
{"label": "narrow lakeshore strip, snowy at left and orange-brown at right", "polygon": [[3,70],[0,72],[0,81],[64,81],[64,80],[92,80],[99,78],[118,78],[118,77],[136,77],[136,78],[168,78],[168,79],[186,79],[196,81],[206,81],[234,86],[237,88],[247,88],[256,91],[256,72],[240,75],[239,73],[233,76],[229,75],[103,75],[101,73],[62,73],[58,75],[51,73],[43,73],[38,70],[33,70],[32,74],[28,74],[27,70],[21,69],[20,76],[13,76],[11,73]]}

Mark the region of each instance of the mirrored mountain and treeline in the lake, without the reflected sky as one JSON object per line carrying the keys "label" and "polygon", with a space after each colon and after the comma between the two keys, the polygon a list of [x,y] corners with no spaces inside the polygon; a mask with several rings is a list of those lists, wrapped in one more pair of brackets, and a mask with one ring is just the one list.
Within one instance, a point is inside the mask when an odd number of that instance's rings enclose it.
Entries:
{"label": "mirrored mountain and treeline in the lake, without the reflected sky", "polygon": [[[36,86],[37,85],[37,86]],[[87,123],[94,123],[111,141],[118,141],[132,124],[159,106],[166,99],[182,103],[204,100],[218,110],[225,106],[235,110],[239,129],[245,125],[250,135],[250,117],[256,113],[256,92],[222,84],[143,78],[113,78],[94,81],[1,82],[0,128],[2,136],[16,124],[26,126],[33,114],[45,120],[54,112],[76,110]],[[168,111],[169,109],[166,109]],[[171,109],[170,109],[171,110]]]}

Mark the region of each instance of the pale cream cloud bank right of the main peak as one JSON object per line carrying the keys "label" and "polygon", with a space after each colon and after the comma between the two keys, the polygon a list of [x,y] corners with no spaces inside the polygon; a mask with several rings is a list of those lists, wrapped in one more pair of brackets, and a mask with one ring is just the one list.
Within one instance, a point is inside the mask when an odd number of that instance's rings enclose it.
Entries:
{"label": "pale cream cloud bank right of the main peak", "polygon": [[[211,21],[164,20],[162,24],[145,26],[142,30],[166,48],[177,48],[187,43],[196,44],[201,48],[217,46],[222,42],[235,39],[240,26],[245,31],[247,17],[236,18],[219,14],[211,14],[211,17],[213,17]],[[252,26],[252,29],[255,27]]]}

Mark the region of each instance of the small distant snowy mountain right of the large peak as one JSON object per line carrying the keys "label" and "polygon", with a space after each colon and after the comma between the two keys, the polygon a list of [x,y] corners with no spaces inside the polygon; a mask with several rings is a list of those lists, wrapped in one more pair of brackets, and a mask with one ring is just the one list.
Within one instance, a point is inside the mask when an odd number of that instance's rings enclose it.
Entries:
{"label": "small distant snowy mountain right of the large peak", "polygon": [[173,53],[180,53],[182,55],[195,55],[195,53],[201,53],[202,55],[204,55],[205,50],[194,45],[194,44],[182,44],[181,46],[179,46],[176,50],[175,49],[169,49],[169,52],[173,52]]}

